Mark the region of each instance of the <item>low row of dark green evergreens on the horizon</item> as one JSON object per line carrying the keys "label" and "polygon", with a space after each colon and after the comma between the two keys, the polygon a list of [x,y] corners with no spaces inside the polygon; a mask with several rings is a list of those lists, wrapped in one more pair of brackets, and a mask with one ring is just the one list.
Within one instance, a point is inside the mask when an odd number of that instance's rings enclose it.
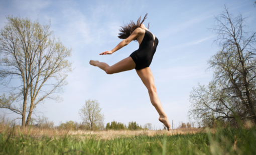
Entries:
{"label": "low row of dark green evergreens on the horizon", "polygon": [[112,129],[112,130],[140,130],[140,129],[148,129],[146,126],[142,127],[142,125],[139,125],[136,123],[136,121],[129,122],[128,126],[123,124],[122,122],[116,122],[112,121],[111,123],[108,122],[105,127],[106,130]]}

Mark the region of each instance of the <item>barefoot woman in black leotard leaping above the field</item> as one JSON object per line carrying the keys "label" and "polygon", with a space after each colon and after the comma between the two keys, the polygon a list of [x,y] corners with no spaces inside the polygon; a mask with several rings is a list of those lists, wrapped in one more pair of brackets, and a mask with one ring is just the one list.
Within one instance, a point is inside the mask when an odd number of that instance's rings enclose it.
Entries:
{"label": "barefoot woman in black leotard leaping above the field", "polygon": [[147,15],[148,13],[145,15],[142,22],[140,17],[137,20],[137,23],[131,20],[131,23],[121,26],[121,29],[119,29],[120,33],[118,33],[118,37],[123,40],[112,50],[104,51],[100,53],[100,55],[112,54],[116,50],[129,44],[132,40],[139,42],[138,50],[134,51],[129,57],[124,58],[123,60],[115,63],[112,66],[109,66],[104,62],[99,62],[95,60],[90,60],[90,64],[98,66],[99,68],[103,69],[107,74],[132,70],[135,68],[143,83],[149,90],[151,103],[155,106],[160,115],[159,120],[164,123],[170,131],[171,124],[158,98],[156,86],[154,83],[154,77],[149,67],[158,45],[158,39],[153,33],[148,30],[149,25],[147,28],[143,24],[143,22],[147,18]]}

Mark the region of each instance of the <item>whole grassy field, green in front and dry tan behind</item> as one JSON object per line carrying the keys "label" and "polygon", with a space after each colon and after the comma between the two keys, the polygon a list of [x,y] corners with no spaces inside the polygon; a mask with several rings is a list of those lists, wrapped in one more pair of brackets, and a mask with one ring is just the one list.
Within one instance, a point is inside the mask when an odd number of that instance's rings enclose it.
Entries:
{"label": "whole grassy field, green in front and dry tan behind", "polygon": [[256,154],[255,127],[48,134],[37,130],[1,130],[0,154]]}

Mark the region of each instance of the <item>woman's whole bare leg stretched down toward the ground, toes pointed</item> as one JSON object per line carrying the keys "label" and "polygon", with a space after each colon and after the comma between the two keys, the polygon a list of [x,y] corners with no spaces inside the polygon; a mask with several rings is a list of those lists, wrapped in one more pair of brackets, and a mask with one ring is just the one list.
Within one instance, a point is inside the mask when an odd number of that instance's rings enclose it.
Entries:
{"label": "woman's whole bare leg stretched down toward the ground, toes pointed", "polygon": [[143,83],[145,84],[145,86],[148,88],[149,90],[149,95],[150,95],[150,100],[151,103],[155,106],[155,108],[157,109],[160,117],[159,120],[165,124],[165,126],[168,128],[168,130],[170,131],[171,129],[171,124],[167,118],[167,115],[163,109],[163,106],[158,98],[157,95],[157,89],[155,86],[155,82],[154,82],[154,76],[151,72],[150,67],[146,67],[140,70],[136,70],[138,75],[141,77]]}

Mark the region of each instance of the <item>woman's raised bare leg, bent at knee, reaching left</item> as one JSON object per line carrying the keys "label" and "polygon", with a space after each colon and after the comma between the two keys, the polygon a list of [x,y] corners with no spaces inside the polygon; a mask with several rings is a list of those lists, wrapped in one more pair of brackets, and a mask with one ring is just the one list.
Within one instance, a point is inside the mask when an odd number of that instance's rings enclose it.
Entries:
{"label": "woman's raised bare leg, bent at knee, reaching left", "polygon": [[90,60],[90,64],[94,66],[98,66],[99,68],[104,70],[107,74],[117,73],[117,72],[126,71],[126,70],[132,70],[136,66],[131,56],[126,57],[111,66],[109,66],[105,62],[99,62],[95,60]]}

